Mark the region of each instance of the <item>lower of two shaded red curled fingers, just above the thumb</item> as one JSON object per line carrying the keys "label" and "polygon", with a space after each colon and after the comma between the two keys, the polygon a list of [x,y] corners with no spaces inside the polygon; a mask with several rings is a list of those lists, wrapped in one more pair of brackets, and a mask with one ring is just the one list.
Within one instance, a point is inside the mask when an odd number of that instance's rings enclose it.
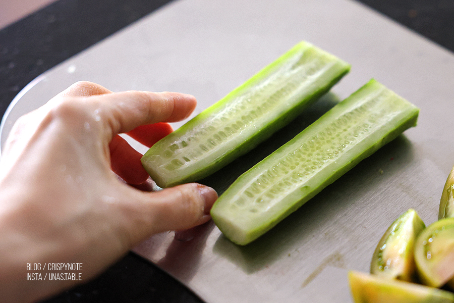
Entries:
{"label": "lower of two shaded red curled fingers, just above the thumb", "polygon": [[148,179],[142,166],[140,154],[119,135],[113,136],[109,143],[111,169],[126,183],[138,185]]}

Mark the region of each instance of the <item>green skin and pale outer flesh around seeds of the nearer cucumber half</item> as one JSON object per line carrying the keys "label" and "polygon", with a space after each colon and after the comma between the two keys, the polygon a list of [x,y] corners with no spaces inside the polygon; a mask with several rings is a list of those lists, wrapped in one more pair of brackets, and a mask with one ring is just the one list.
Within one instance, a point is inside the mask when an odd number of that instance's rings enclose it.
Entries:
{"label": "green skin and pale outer flesh around seeds of the nearer cucumber half", "polygon": [[[297,150],[303,143],[308,142],[319,131],[323,131],[324,124],[329,124],[335,117],[348,113],[350,108],[355,108],[356,103],[361,104],[361,100],[370,98],[370,95],[376,94],[377,91],[390,93],[403,104],[404,109],[393,118],[392,126],[390,126],[390,123],[380,125],[379,130],[374,131],[372,135],[363,138],[352,148],[343,152],[334,162],[318,170],[312,178],[301,184],[298,183],[297,186],[293,186],[295,190],[287,191],[286,195],[278,196],[276,200],[279,201],[279,204],[277,206],[268,207],[265,212],[257,212],[257,215],[254,216],[248,210],[241,209],[240,211],[237,207],[240,202],[245,203],[251,209],[253,208],[254,201],[244,197],[245,188],[248,184],[253,184],[258,176],[265,175],[265,172],[269,171],[271,167],[278,164],[282,159],[285,159],[289,153]],[[370,80],[295,138],[282,145],[274,153],[241,175],[217,199],[212,207],[211,216],[214,222],[223,234],[233,242],[240,245],[252,242],[300,208],[327,185],[356,166],[361,160],[372,155],[377,149],[393,140],[406,129],[415,126],[418,114],[419,109],[407,100],[397,96],[374,79]],[[276,184],[269,184],[268,186],[272,188]],[[271,191],[270,189],[265,190]],[[242,200],[245,200],[245,202]]]}

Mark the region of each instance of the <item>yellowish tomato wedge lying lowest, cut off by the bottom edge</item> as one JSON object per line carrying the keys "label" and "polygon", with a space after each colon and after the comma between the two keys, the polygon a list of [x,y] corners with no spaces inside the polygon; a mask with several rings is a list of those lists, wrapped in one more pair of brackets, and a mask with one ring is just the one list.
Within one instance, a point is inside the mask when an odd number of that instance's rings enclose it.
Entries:
{"label": "yellowish tomato wedge lying lowest, cut off by the bottom edge", "polygon": [[454,302],[454,294],[449,291],[377,275],[350,271],[349,282],[355,303]]}

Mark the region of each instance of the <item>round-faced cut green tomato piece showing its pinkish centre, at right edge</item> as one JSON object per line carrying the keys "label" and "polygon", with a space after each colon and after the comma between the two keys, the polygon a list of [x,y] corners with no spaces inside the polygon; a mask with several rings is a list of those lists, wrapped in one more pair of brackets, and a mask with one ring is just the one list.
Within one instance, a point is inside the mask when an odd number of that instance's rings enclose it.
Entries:
{"label": "round-faced cut green tomato piece showing its pinkish centre, at right edge", "polygon": [[415,243],[415,262],[423,284],[441,287],[449,282],[454,286],[454,218],[436,221],[421,232]]}

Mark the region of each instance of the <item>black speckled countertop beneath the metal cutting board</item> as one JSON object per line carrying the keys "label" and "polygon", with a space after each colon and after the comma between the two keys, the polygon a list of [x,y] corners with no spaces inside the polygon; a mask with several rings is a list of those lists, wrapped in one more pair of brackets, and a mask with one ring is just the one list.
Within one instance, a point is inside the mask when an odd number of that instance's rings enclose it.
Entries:
{"label": "black speckled countertop beneath the metal cutting board", "polygon": [[[59,0],[0,30],[0,113],[41,73],[168,0]],[[454,52],[454,1],[361,0]],[[128,254],[93,281],[46,302],[201,302],[150,262]]]}

